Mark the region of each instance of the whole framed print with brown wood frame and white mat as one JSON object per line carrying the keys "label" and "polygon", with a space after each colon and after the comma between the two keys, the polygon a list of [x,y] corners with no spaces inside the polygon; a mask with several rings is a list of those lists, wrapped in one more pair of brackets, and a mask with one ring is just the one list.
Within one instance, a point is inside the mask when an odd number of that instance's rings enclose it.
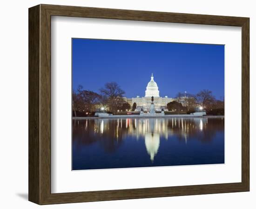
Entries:
{"label": "whole framed print with brown wood frame and white mat", "polygon": [[29,8],[29,201],[249,191],[249,18]]}

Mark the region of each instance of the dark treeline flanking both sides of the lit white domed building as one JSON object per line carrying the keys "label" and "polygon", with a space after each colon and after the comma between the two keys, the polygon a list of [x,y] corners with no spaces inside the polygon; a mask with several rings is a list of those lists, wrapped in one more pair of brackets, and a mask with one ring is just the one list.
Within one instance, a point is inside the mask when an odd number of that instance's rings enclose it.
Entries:
{"label": "dark treeline flanking both sides of the lit white domed building", "polygon": [[[99,93],[84,90],[81,85],[72,94],[72,108],[74,117],[93,114],[95,111],[135,111],[136,103],[127,103],[123,91],[116,82],[109,82],[99,89]],[[216,99],[212,91],[202,90],[196,94],[181,92],[177,93],[174,101],[167,104],[168,111],[175,111],[177,114],[190,114],[198,110],[206,111],[208,115],[224,115],[224,98]]]}

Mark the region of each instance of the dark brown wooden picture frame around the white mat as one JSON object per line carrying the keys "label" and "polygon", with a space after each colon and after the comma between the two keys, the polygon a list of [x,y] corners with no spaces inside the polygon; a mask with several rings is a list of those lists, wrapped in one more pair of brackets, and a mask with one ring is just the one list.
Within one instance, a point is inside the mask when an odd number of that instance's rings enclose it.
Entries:
{"label": "dark brown wooden picture frame around the white mat", "polygon": [[[249,191],[249,18],[38,5],[29,8],[29,194],[37,204]],[[242,182],[51,193],[51,16],[242,27]],[[86,188],[85,188],[86,189]]]}

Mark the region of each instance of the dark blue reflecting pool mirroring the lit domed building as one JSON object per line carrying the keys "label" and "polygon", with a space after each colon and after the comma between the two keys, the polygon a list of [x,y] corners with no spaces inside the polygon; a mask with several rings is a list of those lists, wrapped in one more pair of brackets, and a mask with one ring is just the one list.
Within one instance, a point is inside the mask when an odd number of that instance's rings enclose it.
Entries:
{"label": "dark blue reflecting pool mirroring the lit domed building", "polygon": [[73,120],[73,170],[224,163],[224,118]]}

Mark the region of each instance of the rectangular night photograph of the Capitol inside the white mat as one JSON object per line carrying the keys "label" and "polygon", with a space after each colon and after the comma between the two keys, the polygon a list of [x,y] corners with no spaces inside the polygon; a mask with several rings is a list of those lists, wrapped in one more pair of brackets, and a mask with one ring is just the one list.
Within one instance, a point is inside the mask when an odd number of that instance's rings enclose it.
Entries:
{"label": "rectangular night photograph of the Capitol inside the white mat", "polygon": [[225,163],[224,58],[224,45],[72,38],[72,170]]}

